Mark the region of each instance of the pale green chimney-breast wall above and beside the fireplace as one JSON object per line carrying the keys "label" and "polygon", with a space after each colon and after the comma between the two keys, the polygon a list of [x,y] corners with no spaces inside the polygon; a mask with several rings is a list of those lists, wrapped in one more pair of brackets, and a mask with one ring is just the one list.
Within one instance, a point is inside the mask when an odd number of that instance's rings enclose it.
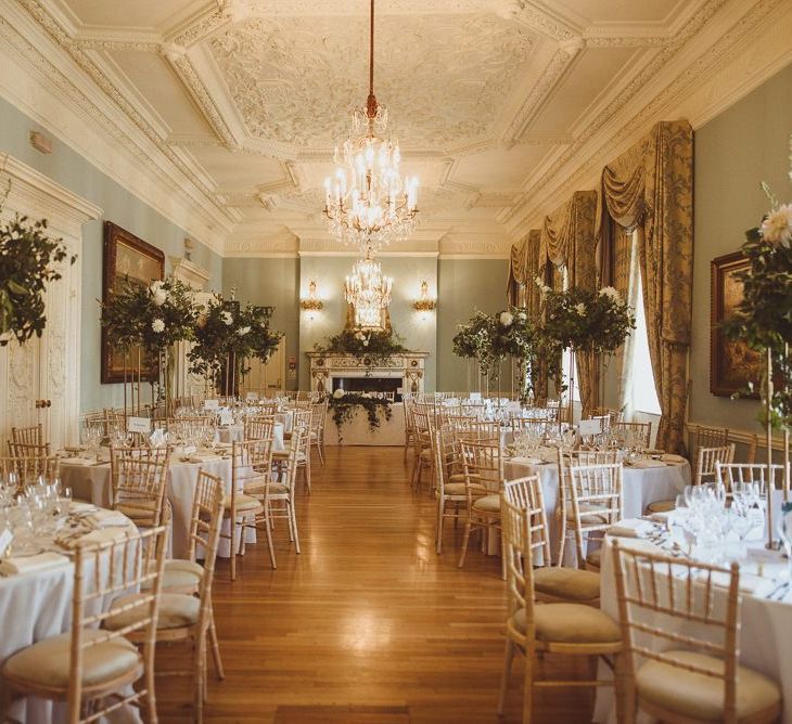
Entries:
{"label": "pale green chimney-breast wall above and beside the fireplace", "polygon": [[[419,295],[421,281],[429,282],[431,294],[437,292],[437,259],[434,257],[382,257],[383,274],[393,277],[393,301],[391,323],[394,332],[404,338],[408,349],[429,352],[425,363],[424,387],[435,389],[437,365],[436,316],[429,313],[425,319],[412,309],[412,300]],[[344,277],[352,271],[355,257],[306,256],[299,264],[301,294],[306,295],[310,280],[317,283],[318,296],[324,301],[324,309],[311,321],[306,313],[299,321],[299,386],[310,387],[310,367],[305,352],[314,349],[316,342],[340,332],[346,322],[346,302],[343,299]]]}

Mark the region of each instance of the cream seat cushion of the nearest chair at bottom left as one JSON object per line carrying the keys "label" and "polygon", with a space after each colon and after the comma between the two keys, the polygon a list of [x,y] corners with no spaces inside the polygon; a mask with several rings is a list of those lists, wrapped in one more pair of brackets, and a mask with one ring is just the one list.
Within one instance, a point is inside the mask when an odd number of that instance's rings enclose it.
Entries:
{"label": "cream seat cushion of the nearest chair at bottom left", "polygon": [[[106,633],[84,631],[84,641],[95,641]],[[68,686],[72,660],[72,634],[52,636],[33,644],[5,659],[3,676],[58,688]],[[140,655],[126,638],[89,646],[82,651],[82,686],[101,686],[126,674],[132,676],[141,667]]]}

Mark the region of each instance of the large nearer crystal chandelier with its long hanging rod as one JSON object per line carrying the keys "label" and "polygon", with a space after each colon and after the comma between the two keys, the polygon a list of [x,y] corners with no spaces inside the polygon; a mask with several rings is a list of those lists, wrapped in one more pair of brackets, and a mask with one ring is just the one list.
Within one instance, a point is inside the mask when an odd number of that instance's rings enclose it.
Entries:
{"label": "large nearer crystal chandelier with its long hanging rod", "polygon": [[387,138],[387,108],[374,95],[374,0],[371,0],[369,96],[352,114],[352,130],[335,146],[335,176],[324,180],[324,216],[330,233],[345,244],[380,248],[412,233],[418,179],[401,177],[398,142]]}

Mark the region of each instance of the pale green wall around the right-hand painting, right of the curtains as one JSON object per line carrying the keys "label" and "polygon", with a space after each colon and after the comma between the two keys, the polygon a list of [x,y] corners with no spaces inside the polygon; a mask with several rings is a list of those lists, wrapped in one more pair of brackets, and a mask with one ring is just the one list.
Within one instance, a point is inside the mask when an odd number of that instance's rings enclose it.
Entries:
{"label": "pale green wall around the right-hand painting, right of the curtains", "polygon": [[736,251],[769,205],[767,181],[792,201],[792,66],[695,132],[693,329],[690,421],[758,431],[757,403],[710,393],[710,262]]}

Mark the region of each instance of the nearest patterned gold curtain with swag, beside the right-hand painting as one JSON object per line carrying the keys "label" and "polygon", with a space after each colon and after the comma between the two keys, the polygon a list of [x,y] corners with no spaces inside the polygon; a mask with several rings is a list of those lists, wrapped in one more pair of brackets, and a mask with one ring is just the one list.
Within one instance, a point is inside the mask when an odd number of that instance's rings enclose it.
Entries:
{"label": "nearest patterned gold curtain with swag, beside the right-hand painting", "polygon": [[[685,451],[687,354],[693,271],[693,132],[687,121],[657,124],[602,170],[597,238],[603,283],[617,281],[616,228],[640,227],[649,351],[660,399],[659,448]],[[605,276],[606,274],[606,276]]]}

